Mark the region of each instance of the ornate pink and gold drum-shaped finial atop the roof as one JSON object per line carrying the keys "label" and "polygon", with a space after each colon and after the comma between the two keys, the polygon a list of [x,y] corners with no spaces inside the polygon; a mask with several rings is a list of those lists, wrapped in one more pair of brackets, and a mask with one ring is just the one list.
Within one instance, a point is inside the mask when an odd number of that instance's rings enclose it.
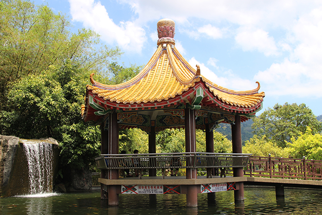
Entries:
{"label": "ornate pink and gold drum-shaped finial atop the roof", "polygon": [[170,19],[162,19],[158,21],[157,24],[157,30],[158,30],[158,46],[161,43],[170,43],[170,44],[176,44],[175,40],[173,39],[175,35],[175,22]]}

